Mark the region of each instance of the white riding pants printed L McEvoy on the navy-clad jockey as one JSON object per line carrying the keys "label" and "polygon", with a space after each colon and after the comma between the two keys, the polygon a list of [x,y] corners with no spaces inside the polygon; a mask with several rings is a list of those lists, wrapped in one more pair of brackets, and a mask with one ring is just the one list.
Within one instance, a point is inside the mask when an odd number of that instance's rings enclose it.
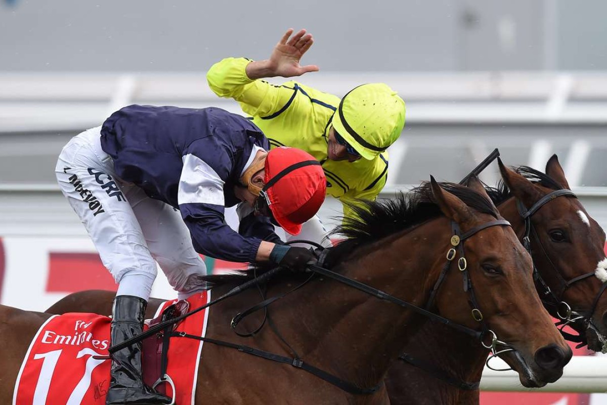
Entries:
{"label": "white riding pants printed L McEvoy on the navy-clad jockey", "polygon": [[59,187],[84,223],[103,265],[118,283],[117,295],[146,301],[156,262],[178,298],[202,290],[205,262],[192,246],[179,211],[118,179],[112,158],[101,149],[101,127],[73,137],[59,154]]}

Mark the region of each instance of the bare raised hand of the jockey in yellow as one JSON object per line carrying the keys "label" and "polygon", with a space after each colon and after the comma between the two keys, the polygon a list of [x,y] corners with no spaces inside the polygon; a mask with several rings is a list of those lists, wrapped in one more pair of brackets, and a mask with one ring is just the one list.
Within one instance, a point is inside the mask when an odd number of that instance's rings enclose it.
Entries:
{"label": "bare raised hand of the jockey in yellow", "polygon": [[262,77],[294,77],[307,72],[317,72],[318,66],[301,66],[299,61],[304,53],[314,43],[314,39],[305,29],[299,30],[295,35],[293,29],[288,29],[285,35],[274,47],[270,59],[251,62],[246,67],[246,75],[251,79]]}

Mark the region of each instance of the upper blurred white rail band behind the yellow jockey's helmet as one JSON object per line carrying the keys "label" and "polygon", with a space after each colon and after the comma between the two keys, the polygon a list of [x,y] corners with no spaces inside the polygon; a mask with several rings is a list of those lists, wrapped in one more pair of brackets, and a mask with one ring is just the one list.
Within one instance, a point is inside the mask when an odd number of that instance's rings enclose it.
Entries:
{"label": "upper blurred white rail band behind the yellow jockey's helmet", "polygon": [[[205,73],[0,72],[0,132],[90,128],[129,103],[240,112]],[[409,123],[607,123],[607,72],[324,72],[302,81],[336,95],[390,83]]]}

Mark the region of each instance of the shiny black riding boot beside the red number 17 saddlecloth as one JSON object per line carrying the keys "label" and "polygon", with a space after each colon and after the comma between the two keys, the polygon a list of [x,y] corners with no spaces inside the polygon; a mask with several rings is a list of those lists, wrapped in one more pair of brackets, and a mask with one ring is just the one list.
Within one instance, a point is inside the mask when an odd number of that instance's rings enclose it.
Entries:
{"label": "shiny black riding boot beside the red number 17 saddlecloth", "polygon": [[[126,341],[143,330],[143,318],[148,302],[130,295],[117,296],[112,308],[112,345]],[[110,386],[107,405],[160,405],[171,403],[164,396],[143,383],[141,376],[141,342],[112,354]]]}

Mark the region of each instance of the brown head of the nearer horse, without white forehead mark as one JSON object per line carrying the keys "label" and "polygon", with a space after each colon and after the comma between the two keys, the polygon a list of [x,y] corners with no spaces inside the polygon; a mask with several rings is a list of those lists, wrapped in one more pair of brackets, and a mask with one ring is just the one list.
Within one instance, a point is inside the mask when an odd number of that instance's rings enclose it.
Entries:
{"label": "brown head of the nearer horse, without white forehead mark", "polygon": [[[446,318],[484,332],[483,345],[493,350],[509,347],[504,360],[519,373],[521,384],[540,387],[556,381],[571,358],[571,349],[558,334],[541,304],[532,279],[529,253],[510,226],[490,226],[502,217],[470,208],[431,181],[435,202],[443,214],[472,234],[460,251],[460,271],[447,274],[436,296],[436,308]],[[478,180],[470,188],[490,201]],[[480,231],[481,230],[481,231]],[[465,237],[465,236],[464,236]],[[461,237],[461,239],[464,239]],[[459,248],[453,239],[453,248]],[[458,242],[458,241],[455,241]],[[462,262],[461,256],[466,259]],[[469,273],[469,277],[466,274]],[[464,289],[457,273],[464,274]],[[459,297],[458,297],[459,296]]]}

